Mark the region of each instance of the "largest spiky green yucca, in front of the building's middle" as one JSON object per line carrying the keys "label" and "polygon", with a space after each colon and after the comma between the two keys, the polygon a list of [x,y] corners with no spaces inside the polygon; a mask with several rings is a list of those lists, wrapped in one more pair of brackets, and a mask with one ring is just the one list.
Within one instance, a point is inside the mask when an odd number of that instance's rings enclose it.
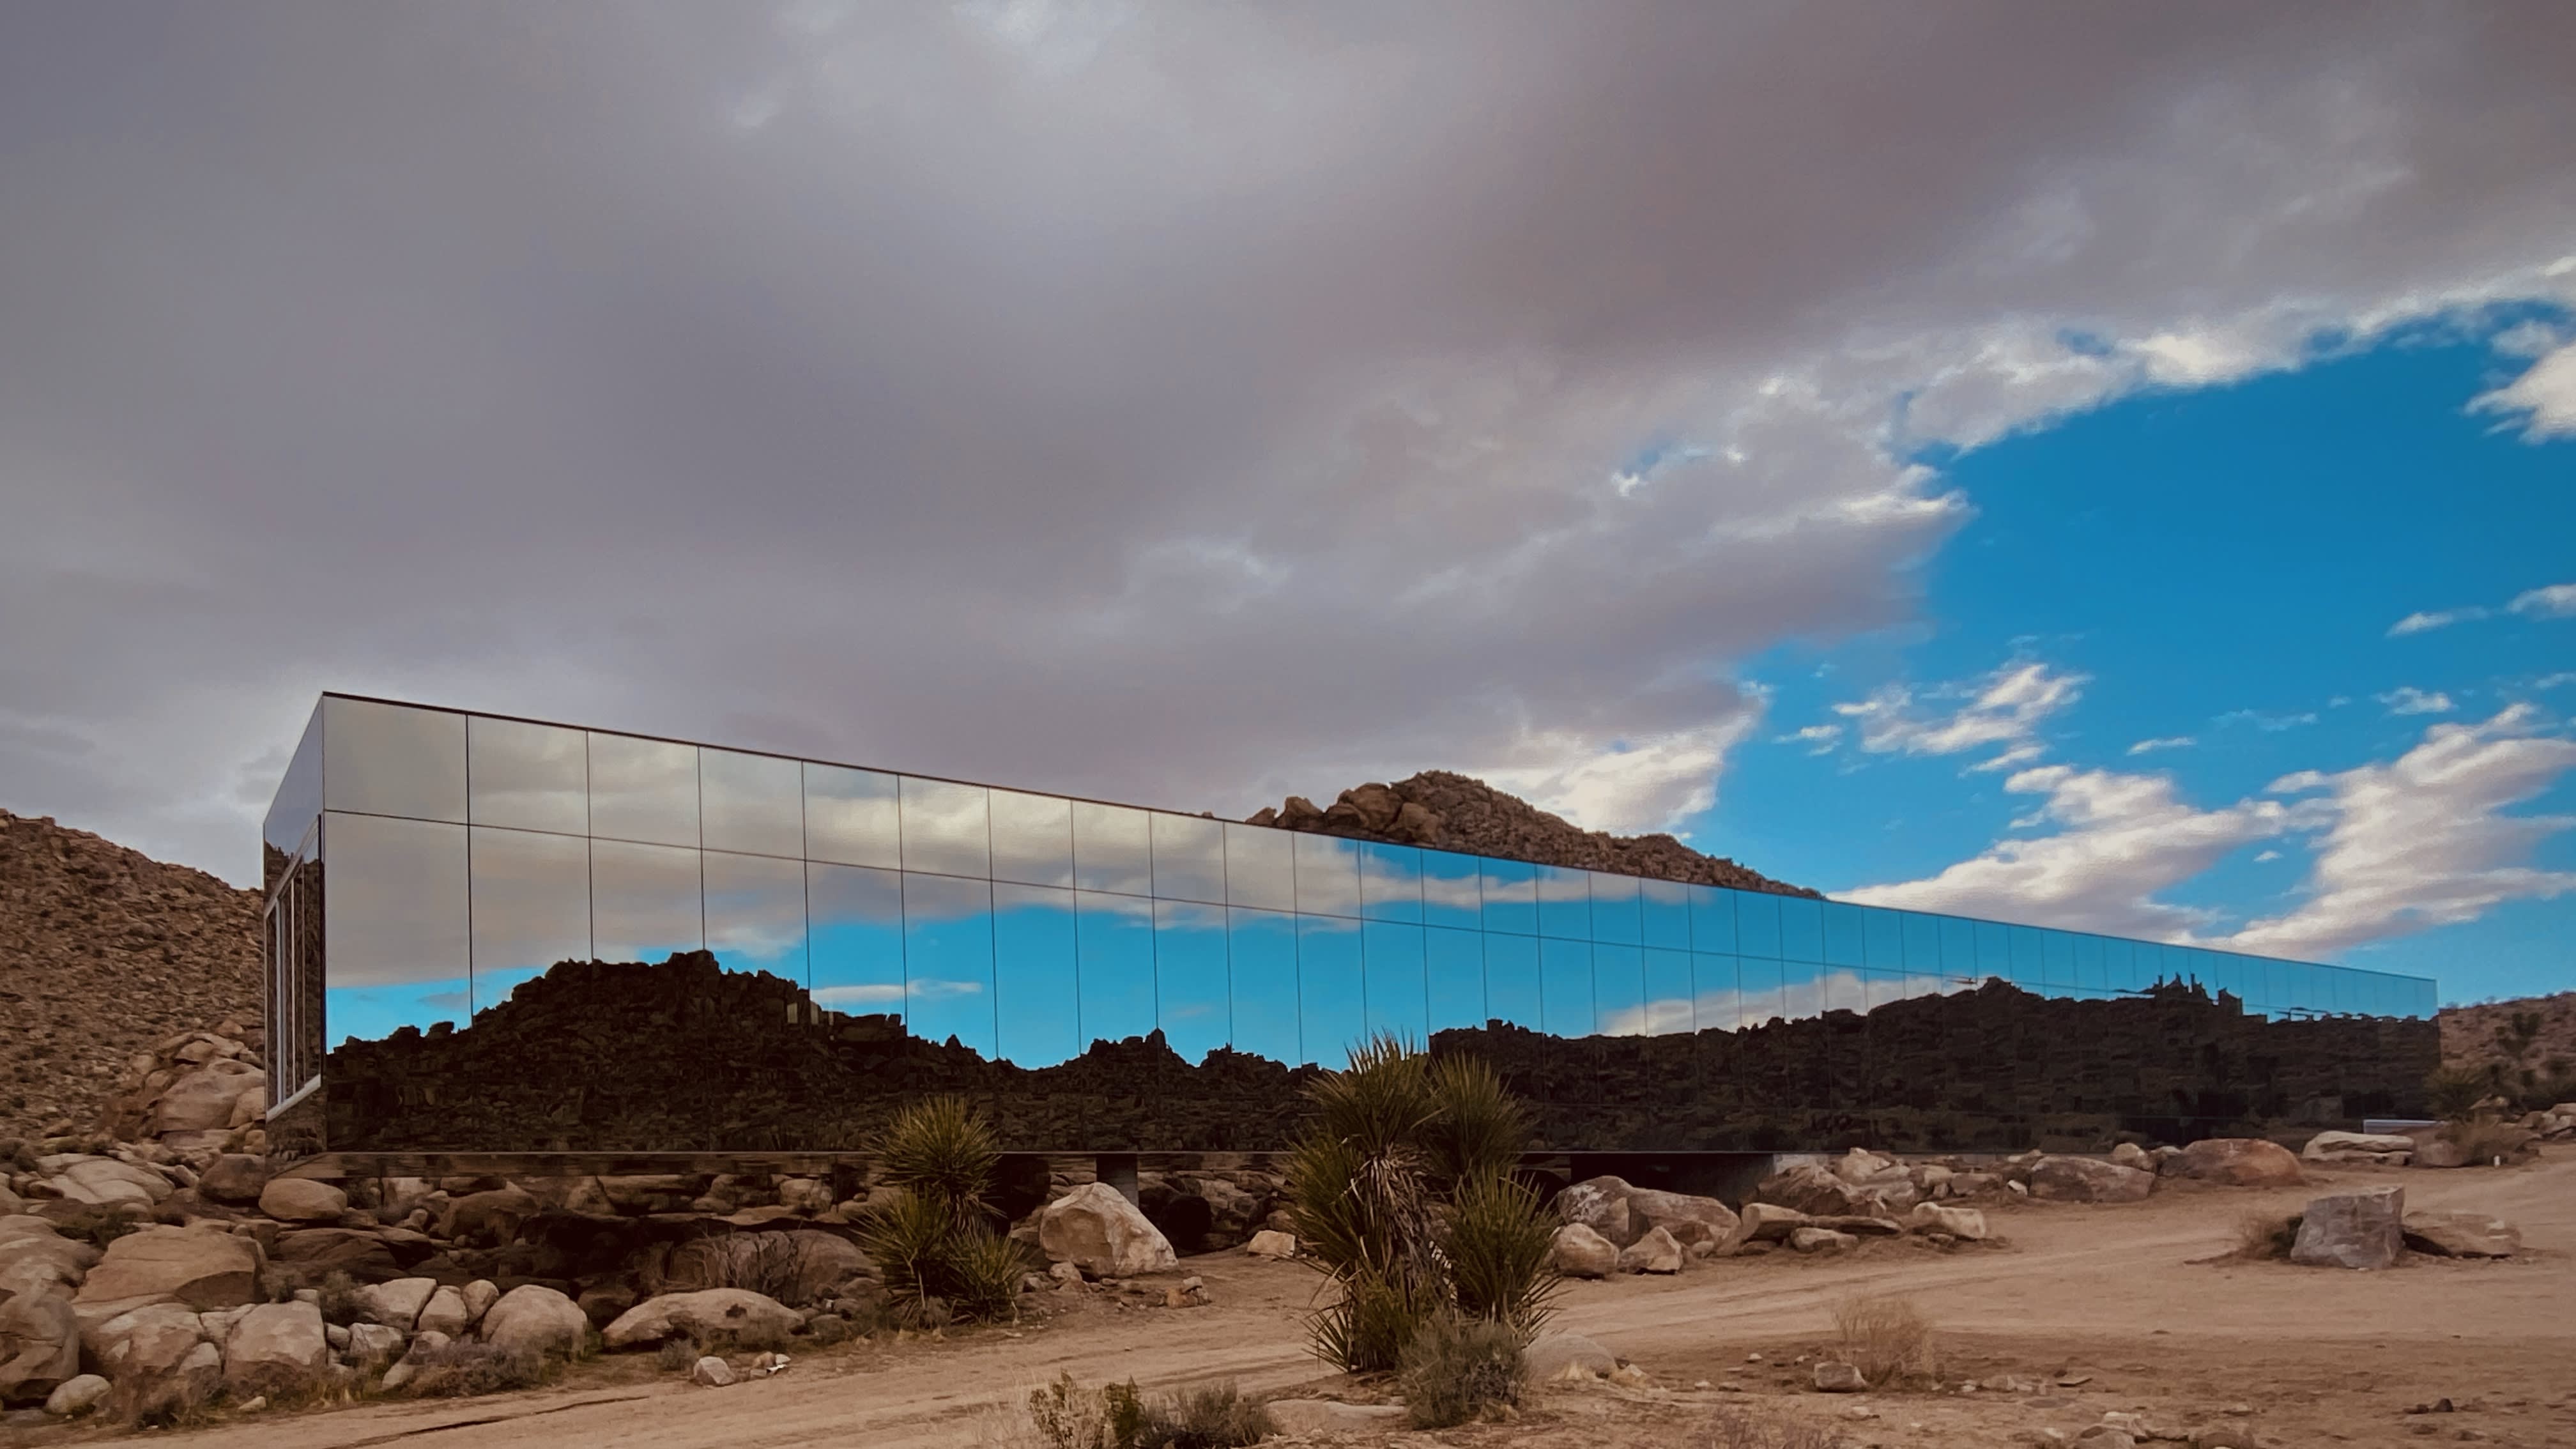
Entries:
{"label": "largest spiky green yucca, in front of the building's middle", "polygon": [[1492,1067],[1435,1067],[1381,1034],[1309,1101],[1314,1122],[1288,1152],[1288,1214],[1332,1279],[1306,1325],[1316,1356],[1394,1369],[1435,1312],[1494,1318],[1528,1341],[1553,1289],[1548,1225],[1538,1196],[1507,1178],[1525,1114]]}

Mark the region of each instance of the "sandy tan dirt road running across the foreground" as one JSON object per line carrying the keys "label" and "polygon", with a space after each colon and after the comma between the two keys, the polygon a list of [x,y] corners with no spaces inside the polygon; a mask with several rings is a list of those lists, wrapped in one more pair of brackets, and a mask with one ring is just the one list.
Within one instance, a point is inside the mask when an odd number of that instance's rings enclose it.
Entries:
{"label": "sandy tan dirt road running across the foreground", "polygon": [[[2524,1230],[2506,1263],[2409,1258],[2349,1274],[2287,1263],[2210,1263],[2254,1209],[2293,1212],[2331,1186],[2396,1181],[2409,1207],[2494,1212]],[[1672,1444],[1692,1415],[1754,1405],[1837,1415],[1852,1444],[2009,1444],[2035,1428],[2094,1423],[2105,1408],[2169,1421],[2251,1408],[2267,1444],[2424,1444],[2483,1436],[2576,1449],[2576,1155],[2509,1171],[2321,1176],[2308,1189],[2159,1191],[2128,1207],[2014,1204],[1994,1214],[2004,1248],[1937,1253],[1875,1243],[1847,1258],[1731,1258],[1677,1279],[1571,1284],[1558,1328],[1646,1366],[1672,1392],[1633,1413],[1535,1415],[1520,1428],[1443,1434],[1455,1444]],[[1059,1372],[1084,1382],[1167,1387],[1239,1379],[1255,1392],[1337,1390],[1298,1341],[1314,1276],[1236,1253],[1193,1258],[1216,1307],[1115,1310],[1108,1294],[1018,1338],[853,1346],[732,1390],[693,1390],[634,1356],[582,1366],[564,1385],[464,1403],[371,1403],[240,1418],[188,1434],[88,1444],[188,1449],[587,1446],[951,1446],[976,1444],[979,1415]],[[1837,1302],[1901,1292],[1940,1325],[1945,1377],[2081,1374],[2040,1395],[1803,1392],[1795,1356],[1832,1333]],[[1747,1364],[1747,1354],[1765,1354]],[[1690,1385],[1708,1379],[1710,1390]],[[2439,1397],[2463,1413],[2409,1415]],[[1610,1405],[1618,1408],[1618,1405]],[[1868,1415],[1868,1418],[1855,1418]],[[54,1436],[62,1441],[62,1436]]]}

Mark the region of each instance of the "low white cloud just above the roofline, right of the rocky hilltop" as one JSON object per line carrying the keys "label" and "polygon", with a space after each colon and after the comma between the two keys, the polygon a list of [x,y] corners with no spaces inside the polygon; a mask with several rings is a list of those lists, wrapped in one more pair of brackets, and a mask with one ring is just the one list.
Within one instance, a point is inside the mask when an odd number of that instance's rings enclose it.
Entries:
{"label": "low white cloud just above the roofline, right of the rocky hilltop", "polygon": [[2004,781],[2038,794],[2056,835],[1996,841],[1945,871],[1844,892],[1862,905],[1950,910],[2112,936],[2187,938],[2208,910],[2156,900],[2239,846],[2280,835],[2298,812],[2277,799],[2195,810],[2172,776],[2043,766]]}

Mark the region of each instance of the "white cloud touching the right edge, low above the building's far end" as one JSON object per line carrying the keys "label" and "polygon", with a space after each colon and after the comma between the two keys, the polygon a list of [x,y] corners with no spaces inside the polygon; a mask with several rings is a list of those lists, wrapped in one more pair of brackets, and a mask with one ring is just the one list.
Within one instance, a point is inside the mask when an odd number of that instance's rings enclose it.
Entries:
{"label": "white cloud touching the right edge, low above the building's far end", "polygon": [[2576,740],[2540,730],[2540,712],[2514,704],[2483,724],[2434,724],[2391,763],[2275,781],[2275,794],[2324,792],[2303,804],[2331,825],[2316,846],[2306,902],[2249,923],[2231,944],[2324,959],[2476,920],[2506,900],[2576,890],[2576,871],[2530,864],[2532,848],[2576,817],[2506,815],[2576,771]]}

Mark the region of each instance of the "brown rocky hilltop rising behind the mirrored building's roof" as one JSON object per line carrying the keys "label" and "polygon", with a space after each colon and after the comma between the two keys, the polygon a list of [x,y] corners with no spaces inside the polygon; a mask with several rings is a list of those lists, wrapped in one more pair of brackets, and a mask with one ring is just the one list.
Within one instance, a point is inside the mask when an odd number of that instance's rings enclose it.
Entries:
{"label": "brown rocky hilltop rising behind the mirrored building's roof", "polygon": [[1512,856],[1587,871],[1767,890],[1772,895],[1819,895],[1803,884],[1775,882],[1723,856],[1703,856],[1672,835],[1579,830],[1528,799],[1450,771],[1422,771],[1396,784],[1345,789],[1327,810],[1316,810],[1303,794],[1291,794],[1285,804],[1262,810],[1249,822],[1358,841],[1440,846],[1473,856]]}

